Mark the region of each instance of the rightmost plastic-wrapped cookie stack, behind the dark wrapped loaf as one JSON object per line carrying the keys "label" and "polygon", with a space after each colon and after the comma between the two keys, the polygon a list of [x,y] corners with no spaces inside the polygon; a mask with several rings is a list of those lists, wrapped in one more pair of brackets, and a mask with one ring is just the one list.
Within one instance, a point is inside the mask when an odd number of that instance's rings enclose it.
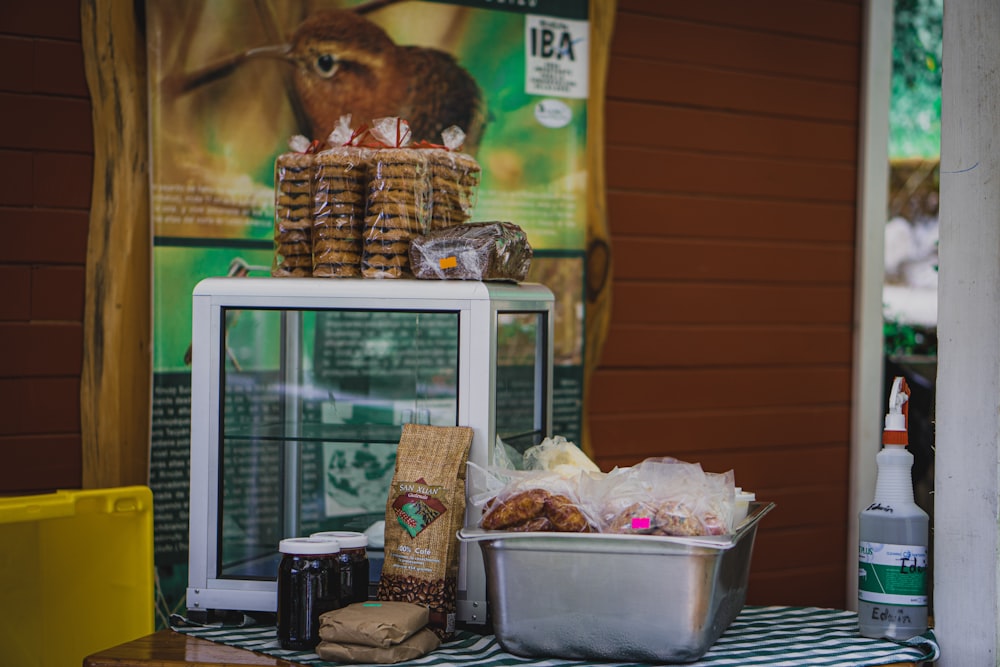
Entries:
{"label": "rightmost plastic-wrapped cookie stack, behind the dark wrapped loaf", "polygon": [[476,159],[459,152],[465,133],[452,126],[441,133],[445,148],[427,150],[431,165],[431,229],[447,229],[472,219],[481,169]]}

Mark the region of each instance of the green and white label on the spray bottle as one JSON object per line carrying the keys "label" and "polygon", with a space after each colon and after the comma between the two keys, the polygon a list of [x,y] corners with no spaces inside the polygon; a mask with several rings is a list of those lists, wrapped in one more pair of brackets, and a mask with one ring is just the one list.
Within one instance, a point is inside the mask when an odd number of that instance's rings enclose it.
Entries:
{"label": "green and white label on the spray bottle", "polygon": [[861,542],[858,599],[902,606],[927,605],[927,547]]}

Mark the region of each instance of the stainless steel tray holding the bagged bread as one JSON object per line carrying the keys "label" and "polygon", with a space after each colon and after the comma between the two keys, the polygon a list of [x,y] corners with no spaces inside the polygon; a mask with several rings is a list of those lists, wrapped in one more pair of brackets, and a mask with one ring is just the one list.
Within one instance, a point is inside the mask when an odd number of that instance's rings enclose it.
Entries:
{"label": "stainless steel tray holding the bagged bread", "polygon": [[746,601],[757,524],[732,535],[659,537],[463,529],[478,542],[497,640],[526,657],[691,662]]}

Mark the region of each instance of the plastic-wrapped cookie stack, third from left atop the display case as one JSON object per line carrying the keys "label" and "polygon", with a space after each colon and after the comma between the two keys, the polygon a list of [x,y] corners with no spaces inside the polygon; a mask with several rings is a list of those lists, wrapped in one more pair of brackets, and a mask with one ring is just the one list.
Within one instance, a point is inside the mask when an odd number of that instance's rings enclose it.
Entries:
{"label": "plastic-wrapped cookie stack, third from left atop the display case", "polygon": [[385,145],[372,153],[361,275],[412,278],[410,241],[430,226],[431,179],[426,151],[402,148],[409,142],[406,121],[376,121],[372,134]]}

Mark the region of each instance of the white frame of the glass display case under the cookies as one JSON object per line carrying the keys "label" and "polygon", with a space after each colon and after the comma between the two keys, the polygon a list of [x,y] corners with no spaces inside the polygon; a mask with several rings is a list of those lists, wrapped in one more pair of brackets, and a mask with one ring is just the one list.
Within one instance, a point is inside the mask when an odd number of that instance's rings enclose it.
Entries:
{"label": "white frame of the glass display case under the cookies", "polygon": [[[274,581],[219,577],[220,378],[226,309],[356,309],[458,313],[457,424],[473,430],[469,460],[492,463],[496,440],[497,318],[540,313],[544,335],[536,351],[536,417],[542,435],[552,430],[552,292],[537,284],[479,281],[318,278],[207,278],[192,296],[191,471],[187,607],[192,612],[273,612]],[[297,363],[297,359],[293,360]],[[283,366],[285,366],[283,364]],[[287,476],[287,475],[286,475]],[[286,503],[287,504],[287,503]],[[294,511],[295,508],[286,508]],[[466,525],[475,518],[466,517]],[[275,545],[277,547],[277,545]],[[460,622],[486,622],[486,576],[478,549],[461,545],[458,577]]]}

